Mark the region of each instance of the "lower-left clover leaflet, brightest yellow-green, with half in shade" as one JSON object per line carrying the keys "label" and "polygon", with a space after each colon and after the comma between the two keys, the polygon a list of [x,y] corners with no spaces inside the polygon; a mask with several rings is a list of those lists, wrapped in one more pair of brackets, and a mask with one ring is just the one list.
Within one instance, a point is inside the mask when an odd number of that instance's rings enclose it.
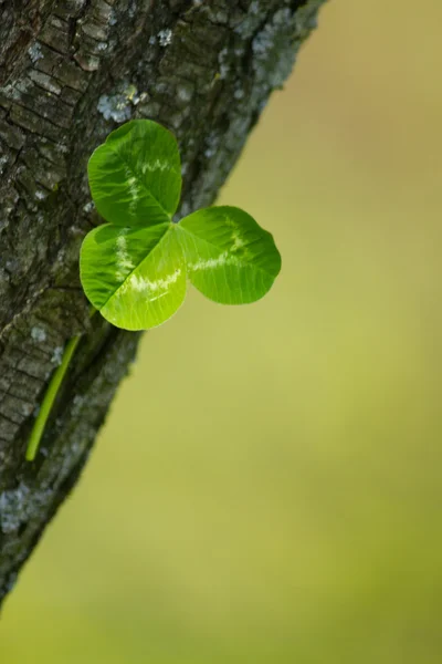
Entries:
{"label": "lower-left clover leaflet, brightest yellow-green, with half in shade", "polygon": [[186,297],[186,263],[177,226],[146,228],[106,224],[83,241],[83,289],[102,315],[125,330],[164,323]]}

